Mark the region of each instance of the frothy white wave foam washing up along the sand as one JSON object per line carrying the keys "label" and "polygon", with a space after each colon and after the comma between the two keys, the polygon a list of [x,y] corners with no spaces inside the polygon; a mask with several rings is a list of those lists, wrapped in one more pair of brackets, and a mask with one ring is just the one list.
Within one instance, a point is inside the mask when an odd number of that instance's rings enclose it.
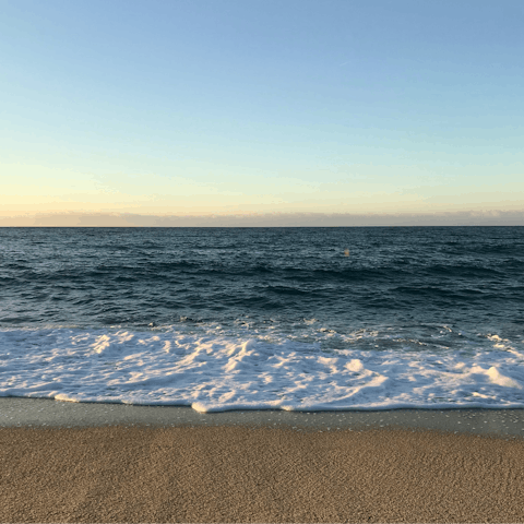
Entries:
{"label": "frothy white wave foam washing up along the sand", "polygon": [[489,346],[469,343],[467,355],[371,350],[378,336],[350,333],[352,348],[323,350],[317,342],[273,332],[231,335],[216,325],[3,329],[0,395],[199,412],[524,407],[522,342],[486,335]]}

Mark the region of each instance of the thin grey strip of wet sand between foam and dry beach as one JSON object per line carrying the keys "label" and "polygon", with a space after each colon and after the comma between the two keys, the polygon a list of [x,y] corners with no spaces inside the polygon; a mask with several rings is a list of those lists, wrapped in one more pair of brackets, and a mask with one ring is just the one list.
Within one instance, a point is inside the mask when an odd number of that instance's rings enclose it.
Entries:
{"label": "thin grey strip of wet sand between foam and dry beach", "polygon": [[524,409],[230,410],[199,413],[189,406],[72,403],[0,397],[0,428],[105,426],[276,426],[311,430],[414,429],[524,439]]}

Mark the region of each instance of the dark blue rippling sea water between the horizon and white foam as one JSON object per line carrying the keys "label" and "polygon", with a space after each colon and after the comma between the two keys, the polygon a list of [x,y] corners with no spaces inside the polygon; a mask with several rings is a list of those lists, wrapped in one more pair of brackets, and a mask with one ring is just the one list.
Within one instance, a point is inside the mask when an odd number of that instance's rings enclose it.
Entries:
{"label": "dark blue rippling sea water between the horizon and white foam", "polygon": [[[520,354],[523,326],[524,227],[0,229],[4,361],[73,350],[79,333],[92,348],[157,333],[170,347],[192,336],[188,352],[216,334],[226,354],[235,341],[272,355]],[[3,394],[24,380],[36,379]]]}

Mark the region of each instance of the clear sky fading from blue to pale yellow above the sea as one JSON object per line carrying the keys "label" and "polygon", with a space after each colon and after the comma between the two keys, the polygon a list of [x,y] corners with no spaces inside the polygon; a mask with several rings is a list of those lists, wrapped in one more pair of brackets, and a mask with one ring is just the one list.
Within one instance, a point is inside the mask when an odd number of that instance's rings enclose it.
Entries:
{"label": "clear sky fading from blue to pale yellow above the sea", "polygon": [[524,225],[522,0],[0,7],[0,225]]}

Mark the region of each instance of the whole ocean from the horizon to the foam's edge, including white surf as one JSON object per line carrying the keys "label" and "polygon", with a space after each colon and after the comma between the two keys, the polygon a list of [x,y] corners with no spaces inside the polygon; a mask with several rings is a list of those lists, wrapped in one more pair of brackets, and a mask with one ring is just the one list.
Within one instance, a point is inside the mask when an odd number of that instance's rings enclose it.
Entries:
{"label": "whole ocean from the horizon to the foam's edge, including white surf", "polygon": [[524,227],[0,228],[0,396],[524,407]]}

